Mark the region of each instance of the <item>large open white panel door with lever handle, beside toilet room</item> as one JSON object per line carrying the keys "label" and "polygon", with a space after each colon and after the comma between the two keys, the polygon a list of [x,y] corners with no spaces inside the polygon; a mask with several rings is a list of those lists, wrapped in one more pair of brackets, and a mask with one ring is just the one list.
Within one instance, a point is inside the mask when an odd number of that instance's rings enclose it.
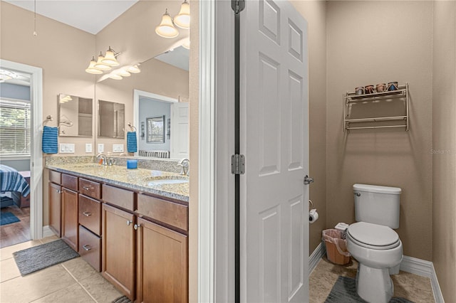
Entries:
{"label": "large open white panel door with lever handle, beside toilet room", "polygon": [[241,301],[308,302],[307,23],[288,1],[240,14]]}

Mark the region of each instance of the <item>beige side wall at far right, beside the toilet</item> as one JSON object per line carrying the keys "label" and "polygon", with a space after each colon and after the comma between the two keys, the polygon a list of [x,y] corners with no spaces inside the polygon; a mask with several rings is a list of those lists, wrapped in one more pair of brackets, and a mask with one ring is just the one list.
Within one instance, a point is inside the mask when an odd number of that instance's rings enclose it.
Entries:
{"label": "beige side wall at far right, beside the toilet", "polygon": [[434,2],[432,262],[446,302],[456,298],[456,2]]}

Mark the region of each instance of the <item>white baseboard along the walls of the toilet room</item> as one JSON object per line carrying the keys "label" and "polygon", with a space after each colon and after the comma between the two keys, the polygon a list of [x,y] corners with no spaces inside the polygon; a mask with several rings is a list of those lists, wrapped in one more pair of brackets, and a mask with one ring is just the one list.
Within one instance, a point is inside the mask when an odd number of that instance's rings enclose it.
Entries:
{"label": "white baseboard along the walls of the toilet room", "polygon": [[[309,257],[309,276],[312,271],[314,271],[316,265],[320,261],[321,257],[325,255],[326,248],[325,245],[320,243],[314,252]],[[430,283],[432,286],[432,292],[434,294],[434,299],[436,303],[445,303],[443,299],[442,290],[440,289],[439,282],[437,280],[437,275],[435,274],[434,265],[432,262],[421,260],[416,257],[404,256],[402,262],[400,263],[400,270],[404,272],[410,272],[414,275],[419,275],[422,277],[430,278]]]}

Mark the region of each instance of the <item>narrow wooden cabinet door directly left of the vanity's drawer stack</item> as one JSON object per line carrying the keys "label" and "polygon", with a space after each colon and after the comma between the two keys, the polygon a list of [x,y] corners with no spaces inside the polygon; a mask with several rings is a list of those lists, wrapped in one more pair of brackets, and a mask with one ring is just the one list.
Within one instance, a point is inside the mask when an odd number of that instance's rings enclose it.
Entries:
{"label": "narrow wooden cabinet door directly left of the vanity's drawer stack", "polygon": [[62,239],[78,251],[78,193],[62,188]]}

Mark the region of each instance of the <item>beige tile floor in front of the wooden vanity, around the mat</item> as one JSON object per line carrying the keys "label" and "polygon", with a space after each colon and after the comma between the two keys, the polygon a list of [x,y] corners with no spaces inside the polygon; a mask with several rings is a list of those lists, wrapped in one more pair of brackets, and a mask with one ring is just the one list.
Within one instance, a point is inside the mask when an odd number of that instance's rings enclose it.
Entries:
{"label": "beige tile floor in front of the wooden vanity, around the mat", "polygon": [[113,302],[113,285],[78,257],[21,277],[13,252],[57,240],[49,237],[0,249],[0,302]]}

